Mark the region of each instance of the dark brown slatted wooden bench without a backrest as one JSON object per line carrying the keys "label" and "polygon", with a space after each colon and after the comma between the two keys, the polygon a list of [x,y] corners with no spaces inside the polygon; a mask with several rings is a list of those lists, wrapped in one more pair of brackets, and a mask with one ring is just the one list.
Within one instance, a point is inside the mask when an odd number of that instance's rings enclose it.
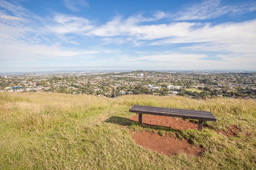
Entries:
{"label": "dark brown slatted wooden bench without a backrest", "polygon": [[197,120],[199,120],[198,130],[203,129],[203,121],[216,122],[216,118],[210,111],[172,109],[172,108],[134,105],[132,108],[130,108],[129,112],[139,114],[139,123],[140,124],[142,124],[142,114],[182,117],[182,118],[186,118],[186,119],[197,119]]}

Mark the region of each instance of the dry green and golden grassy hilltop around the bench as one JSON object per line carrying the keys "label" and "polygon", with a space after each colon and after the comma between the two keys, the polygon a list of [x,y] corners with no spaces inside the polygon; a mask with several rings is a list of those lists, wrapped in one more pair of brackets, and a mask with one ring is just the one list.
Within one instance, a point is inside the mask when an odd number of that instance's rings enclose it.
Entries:
{"label": "dry green and golden grassy hilltop around the bench", "polygon": [[[172,130],[203,154],[168,157],[135,144],[129,130],[150,128],[129,120],[134,104],[212,111],[217,122],[203,131]],[[221,133],[234,125],[234,136]],[[256,169],[256,102],[0,93],[0,169]]]}

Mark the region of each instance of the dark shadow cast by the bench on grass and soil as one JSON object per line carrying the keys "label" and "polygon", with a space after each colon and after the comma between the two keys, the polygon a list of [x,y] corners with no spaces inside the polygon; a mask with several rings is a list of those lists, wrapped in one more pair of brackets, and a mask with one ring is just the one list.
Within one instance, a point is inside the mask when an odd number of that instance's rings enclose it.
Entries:
{"label": "dark shadow cast by the bench on grass and soil", "polygon": [[[133,122],[138,122],[138,121],[130,120],[130,119],[125,118],[125,117],[111,116],[108,119],[106,119],[105,122],[111,123],[111,124],[117,124],[117,125],[121,125],[121,126],[130,126],[130,125],[132,125]],[[161,128],[164,127],[166,129],[168,129],[169,131],[181,131],[179,129],[174,129],[174,128],[171,128],[171,127],[168,127],[168,126],[159,126],[159,125],[152,125],[152,124],[146,124],[146,123],[142,123],[141,126],[151,128],[151,129],[154,129],[154,130],[158,130],[158,129],[161,129]]]}

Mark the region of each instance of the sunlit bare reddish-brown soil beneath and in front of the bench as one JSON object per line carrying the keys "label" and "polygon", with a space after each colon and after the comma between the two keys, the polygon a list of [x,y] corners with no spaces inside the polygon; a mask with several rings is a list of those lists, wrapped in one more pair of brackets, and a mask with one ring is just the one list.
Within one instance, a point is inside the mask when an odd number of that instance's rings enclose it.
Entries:
{"label": "sunlit bare reddish-brown soil beneath and in front of the bench", "polygon": [[[138,121],[138,115],[134,115],[130,120]],[[166,116],[143,115],[143,124],[153,126],[166,126],[177,130],[184,129],[197,129],[198,124],[189,122],[183,119],[175,119]],[[138,132],[132,134],[134,141],[144,148],[154,150],[165,155],[175,155],[178,153],[186,153],[187,155],[199,156],[202,148],[192,146],[187,140],[180,140],[171,137],[170,135],[160,136],[158,133],[153,132]]]}

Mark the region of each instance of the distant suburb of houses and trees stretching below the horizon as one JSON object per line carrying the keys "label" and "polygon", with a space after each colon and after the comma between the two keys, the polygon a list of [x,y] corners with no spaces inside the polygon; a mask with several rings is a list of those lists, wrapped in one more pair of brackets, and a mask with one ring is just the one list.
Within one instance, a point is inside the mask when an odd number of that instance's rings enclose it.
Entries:
{"label": "distant suburb of houses and trees stretching below the horizon", "polygon": [[117,97],[128,94],[255,99],[255,72],[41,72],[0,76],[0,92],[56,92]]}

